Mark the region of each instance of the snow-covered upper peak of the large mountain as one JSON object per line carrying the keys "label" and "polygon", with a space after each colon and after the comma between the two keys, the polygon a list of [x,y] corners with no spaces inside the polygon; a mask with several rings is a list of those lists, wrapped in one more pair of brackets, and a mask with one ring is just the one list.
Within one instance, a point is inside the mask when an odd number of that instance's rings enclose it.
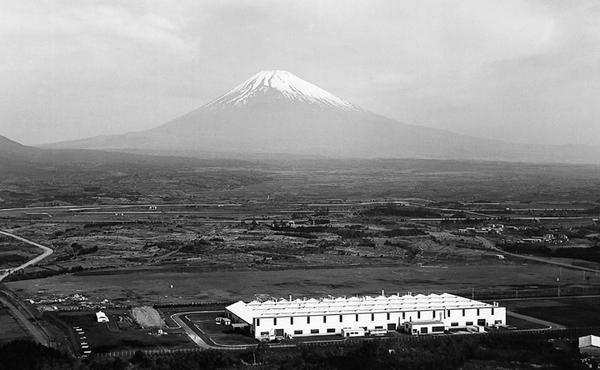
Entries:
{"label": "snow-covered upper peak of the large mountain", "polygon": [[242,107],[273,93],[275,96],[283,97],[291,102],[344,110],[361,110],[352,103],[283,70],[260,71],[217,100],[207,104],[206,107],[210,109]]}

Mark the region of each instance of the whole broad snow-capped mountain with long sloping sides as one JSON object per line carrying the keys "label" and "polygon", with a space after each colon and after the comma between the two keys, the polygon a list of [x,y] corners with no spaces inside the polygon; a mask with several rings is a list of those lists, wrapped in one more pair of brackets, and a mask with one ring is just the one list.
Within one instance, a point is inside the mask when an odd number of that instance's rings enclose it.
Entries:
{"label": "whole broad snow-capped mountain with long sloping sides", "polygon": [[532,162],[598,162],[600,157],[598,147],[513,144],[404,124],[278,70],[259,72],[154,129],[50,147]]}

